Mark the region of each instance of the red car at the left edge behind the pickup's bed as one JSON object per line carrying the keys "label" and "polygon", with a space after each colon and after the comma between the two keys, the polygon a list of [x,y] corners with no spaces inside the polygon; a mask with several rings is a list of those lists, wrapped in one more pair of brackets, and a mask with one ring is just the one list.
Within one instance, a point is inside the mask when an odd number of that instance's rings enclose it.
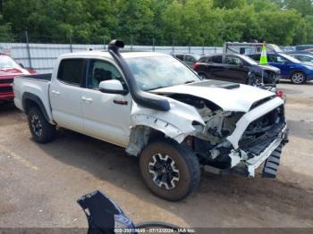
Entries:
{"label": "red car at the left edge behind the pickup's bed", "polygon": [[13,101],[13,79],[15,76],[36,73],[26,70],[8,55],[0,54],[0,101]]}

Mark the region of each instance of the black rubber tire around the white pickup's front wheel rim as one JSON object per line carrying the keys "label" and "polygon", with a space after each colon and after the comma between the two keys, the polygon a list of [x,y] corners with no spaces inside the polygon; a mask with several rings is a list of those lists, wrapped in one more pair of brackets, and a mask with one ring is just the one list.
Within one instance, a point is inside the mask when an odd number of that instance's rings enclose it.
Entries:
{"label": "black rubber tire around the white pickup's front wheel rim", "polygon": [[[149,172],[149,163],[153,155],[163,154],[170,156],[179,171],[179,180],[170,190],[160,188]],[[179,145],[173,140],[157,140],[146,146],[140,154],[140,171],[142,179],[148,188],[157,196],[169,201],[179,201],[199,186],[200,166],[197,156],[187,146]]]}

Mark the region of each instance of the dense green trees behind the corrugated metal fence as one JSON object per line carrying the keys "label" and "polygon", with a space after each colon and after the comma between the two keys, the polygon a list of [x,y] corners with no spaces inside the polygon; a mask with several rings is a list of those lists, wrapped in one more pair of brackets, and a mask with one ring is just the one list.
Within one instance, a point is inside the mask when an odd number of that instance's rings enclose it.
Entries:
{"label": "dense green trees behind the corrugated metal fence", "polygon": [[0,0],[0,41],[313,44],[311,0]]}

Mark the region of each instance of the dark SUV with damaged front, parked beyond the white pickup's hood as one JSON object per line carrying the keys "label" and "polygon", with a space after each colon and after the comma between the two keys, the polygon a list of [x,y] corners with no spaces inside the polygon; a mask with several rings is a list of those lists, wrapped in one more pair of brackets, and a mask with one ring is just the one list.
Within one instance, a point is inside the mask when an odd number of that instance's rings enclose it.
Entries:
{"label": "dark SUV with damaged front, parked beyond the white pickup's hood", "polygon": [[220,79],[241,84],[250,84],[250,77],[263,80],[264,84],[274,84],[280,76],[279,69],[258,65],[242,54],[206,55],[193,65],[193,70],[204,79]]}

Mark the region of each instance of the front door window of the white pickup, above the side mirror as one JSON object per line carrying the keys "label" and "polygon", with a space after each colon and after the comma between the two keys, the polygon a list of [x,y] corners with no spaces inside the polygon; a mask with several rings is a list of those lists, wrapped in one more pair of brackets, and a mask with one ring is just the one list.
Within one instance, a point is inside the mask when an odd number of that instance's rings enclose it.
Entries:
{"label": "front door window of the white pickup, above the side mirror", "polygon": [[87,74],[87,88],[97,89],[101,81],[109,79],[119,79],[123,86],[125,86],[121,73],[112,63],[91,59],[89,61],[89,70]]}

